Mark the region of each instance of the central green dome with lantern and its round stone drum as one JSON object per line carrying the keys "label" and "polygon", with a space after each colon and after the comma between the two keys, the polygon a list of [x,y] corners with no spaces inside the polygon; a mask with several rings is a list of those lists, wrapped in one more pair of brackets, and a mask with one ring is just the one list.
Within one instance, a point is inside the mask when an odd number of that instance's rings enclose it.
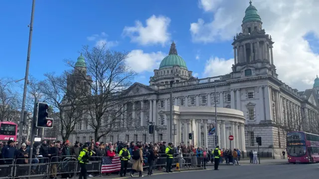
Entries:
{"label": "central green dome with lantern and its round stone drum", "polygon": [[173,41],[168,55],[160,62],[159,70],[154,70],[154,76],[150,77],[150,85],[165,85],[170,81],[184,82],[193,78],[192,71],[188,71],[184,59],[177,55]]}

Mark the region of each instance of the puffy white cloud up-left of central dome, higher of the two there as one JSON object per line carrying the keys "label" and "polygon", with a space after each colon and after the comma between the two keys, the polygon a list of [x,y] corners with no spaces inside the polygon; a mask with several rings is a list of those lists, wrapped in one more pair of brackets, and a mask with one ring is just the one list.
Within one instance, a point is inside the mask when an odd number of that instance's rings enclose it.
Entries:
{"label": "puffy white cloud up-left of central dome, higher of the two there", "polygon": [[170,33],[167,32],[170,18],[165,16],[152,15],[146,20],[146,26],[141,21],[136,21],[135,26],[125,26],[123,35],[131,38],[132,42],[141,45],[161,44],[165,45],[170,39]]}

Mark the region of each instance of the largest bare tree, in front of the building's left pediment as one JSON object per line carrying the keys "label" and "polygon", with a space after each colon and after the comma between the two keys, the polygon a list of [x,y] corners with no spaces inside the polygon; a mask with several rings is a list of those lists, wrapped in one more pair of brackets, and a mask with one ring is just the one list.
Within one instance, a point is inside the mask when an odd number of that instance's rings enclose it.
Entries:
{"label": "largest bare tree, in front of the building's left pediment", "polygon": [[92,49],[84,46],[82,53],[86,58],[85,70],[74,63],[69,65],[84,81],[79,103],[87,109],[87,123],[94,130],[95,141],[99,141],[121,121],[127,122],[124,113],[129,107],[124,104],[129,104],[132,97],[124,91],[132,85],[136,73],[126,63],[126,52],[111,51],[103,45]]}

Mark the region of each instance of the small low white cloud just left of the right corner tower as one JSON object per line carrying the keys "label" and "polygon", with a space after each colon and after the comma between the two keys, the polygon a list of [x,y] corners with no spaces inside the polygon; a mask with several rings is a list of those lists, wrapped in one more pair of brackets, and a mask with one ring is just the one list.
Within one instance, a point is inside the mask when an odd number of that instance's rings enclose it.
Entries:
{"label": "small low white cloud just left of the right corner tower", "polygon": [[215,77],[226,75],[232,71],[231,66],[233,63],[234,59],[225,60],[223,58],[211,57],[206,61],[203,76]]}

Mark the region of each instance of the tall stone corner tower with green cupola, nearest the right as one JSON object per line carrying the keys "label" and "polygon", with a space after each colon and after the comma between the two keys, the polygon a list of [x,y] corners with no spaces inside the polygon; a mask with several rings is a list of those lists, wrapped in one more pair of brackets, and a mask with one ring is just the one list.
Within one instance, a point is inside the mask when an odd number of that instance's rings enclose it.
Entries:
{"label": "tall stone corner tower with green cupola, nearest the right", "polygon": [[233,77],[272,75],[278,78],[273,60],[271,36],[262,28],[257,8],[249,2],[242,21],[242,32],[234,36]]}

